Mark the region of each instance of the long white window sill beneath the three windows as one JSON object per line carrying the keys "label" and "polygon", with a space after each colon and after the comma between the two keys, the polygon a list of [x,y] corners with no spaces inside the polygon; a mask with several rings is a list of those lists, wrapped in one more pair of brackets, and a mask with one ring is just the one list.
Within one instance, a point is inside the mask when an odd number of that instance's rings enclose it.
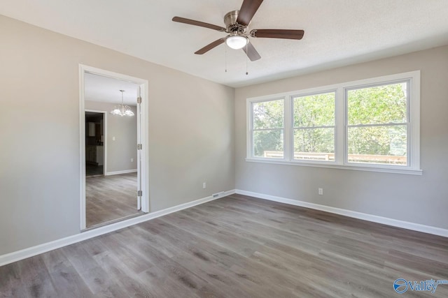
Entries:
{"label": "long white window sill beneath the three windows", "polygon": [[356,170],[356,171],[367,171],[367,172],[384,172],[393,174],[409,174],[409,175],[422,175],[423,170],[411,170],[408,168],[391,168],[391,167],[381,167],[381,166],[363,166],[363,165],[337,165],[330,163],[321,162],[299,162],[299,161],[283,161],[276,160],[274,158],[246,158],[247,162],[250,163],[274,163],[277,165],[299,165],[302,167],[328,167],[330,169],[341,169],[341,170]]}

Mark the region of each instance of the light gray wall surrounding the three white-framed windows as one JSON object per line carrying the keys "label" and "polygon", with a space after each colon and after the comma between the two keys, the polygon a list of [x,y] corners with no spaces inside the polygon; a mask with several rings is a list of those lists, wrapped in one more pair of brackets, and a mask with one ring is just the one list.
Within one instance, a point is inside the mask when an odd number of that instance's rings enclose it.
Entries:
{"label": "light gray wall surrounding the three white-framed windows", "polygon": [[[246,98],[421,70],[422,176],[248,163]],[[448,228],[448,46],[235,91],[237,189]],[[318,195],[317,188],[324,188]]]}

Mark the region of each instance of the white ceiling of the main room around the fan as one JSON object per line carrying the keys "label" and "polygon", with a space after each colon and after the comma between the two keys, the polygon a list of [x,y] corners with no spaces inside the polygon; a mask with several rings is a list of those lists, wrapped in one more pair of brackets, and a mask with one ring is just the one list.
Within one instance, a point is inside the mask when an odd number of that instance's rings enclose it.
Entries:
{"label": "white ceiling of the main room around the fan", "polygon": [[225,33],[242,0],[2,0],[0,14],[232,87],[448,44],[448,0],[265,0],[250,29],[304,29],[302,40],[252,38],[262,59],[225,45],[193,54]]}

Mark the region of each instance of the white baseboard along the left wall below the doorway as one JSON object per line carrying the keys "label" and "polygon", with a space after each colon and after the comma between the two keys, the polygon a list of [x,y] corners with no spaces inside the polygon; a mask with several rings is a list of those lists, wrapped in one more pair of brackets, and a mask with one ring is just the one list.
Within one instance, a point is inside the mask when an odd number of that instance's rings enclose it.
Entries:
{"label": "white baseboard along the left wall below the doorway", "polygon": [[105,225],[100,228],[95,228],[92,230],[87,230],[85,232],[80,232],[79,234],[75,234],[73,236],[65,237],[62,239],[57,239],[55,241],[47,242],[44,244],[39,244],[37,246],[32,246],[29,248],[22,249],[21,251],[15,251],[13,253],[7,253],[6,255],[0,255],[0,266],[10,264],[12,262],[16,262],[19,260],[23,260],[26,258],[30,258],[34,255],[39,255],[41,253],[46,253],[47,251],[52,251],[56,248],[61,248],[76,242],[84,241],[93,237],[97,237],[102,234],[106,234],[109,232],[113,232],[116,230],[120,230],[123,228],[127,228],[130,225],[136,225],[137,223],[143,223],[144,221],[150,221],[153,218],[158,218],[160,216],[164,216],[167,214],[171,214],[176,211],[180,211],[183,209],[187,209],[198,204],[204,204],[205,202],[210,202],[219,198],[223,198],[226,195],[232,195],[235,193],[235,189],[232,191],[225,191],[221,193],[217,198],[213,198],[213,196],[209,196],[207,198],[202,198],[199,200],[195,200],[192,202],[180,204],[174,207],[169,207],[167,209],[163,209],[160,211],[155,211],[152,213],[148,213],[142,216],[137,216],[134,218],[127,219],[125,221],[120,221],[118,223],[111,223],[110,225]]}

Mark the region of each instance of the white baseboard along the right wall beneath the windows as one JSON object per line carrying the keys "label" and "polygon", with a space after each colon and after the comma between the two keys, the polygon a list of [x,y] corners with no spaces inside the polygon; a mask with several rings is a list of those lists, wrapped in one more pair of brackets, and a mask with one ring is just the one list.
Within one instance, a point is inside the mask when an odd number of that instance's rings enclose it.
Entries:
{"label": "white baseboard along the right wall beneath the windows", "polygon": [[404,228],[407,230],[414,230],[417,232],[423,232],[423,233],[428,233],[428,234],[435,234],[435,235],[442,236],[442,237],[448,237],[448,230],[433,227],[430,225],[421,225],[419,223],[410,223],[409,221],[399,221],[399,220],[393,219],[393,218],[376,216],[376,215],[372,215],[372,214],[365,214],[365,213],[361,213],[361,212],[357,212],[357,211],[340,209],[340,208],[336,208],[336,207],[330,207],[330,206],[325,206],[325,205],[321,205],[321,204],[314,204],[314,203],[310,203],[310,202],[303,202],[303,201],[299,201],[299,200],[291,200],[291,199],[287,199],[287,198],[276,197],[274,195],[265,195],[263,193],[253,193],[251,191],[241,191],[240,189],[237,189],[236,193],[238,193],[240,195],[249,195],[254,198],[259,198],[259,199],[270,200],[270,201],[274,201],[274,202],[281,202],[284,204],[291,204],[291,205],[295,205],[295,206],[326,211],[326,212],[330,212],[333,214],[339,214],[339,215],[343,215],[343,216],[349,216],[352,218],[362,219],[364,221],[372,221],[373,223],[382,223],[384,225],[391,225],[391,226],[397,227],[397,228]]}

